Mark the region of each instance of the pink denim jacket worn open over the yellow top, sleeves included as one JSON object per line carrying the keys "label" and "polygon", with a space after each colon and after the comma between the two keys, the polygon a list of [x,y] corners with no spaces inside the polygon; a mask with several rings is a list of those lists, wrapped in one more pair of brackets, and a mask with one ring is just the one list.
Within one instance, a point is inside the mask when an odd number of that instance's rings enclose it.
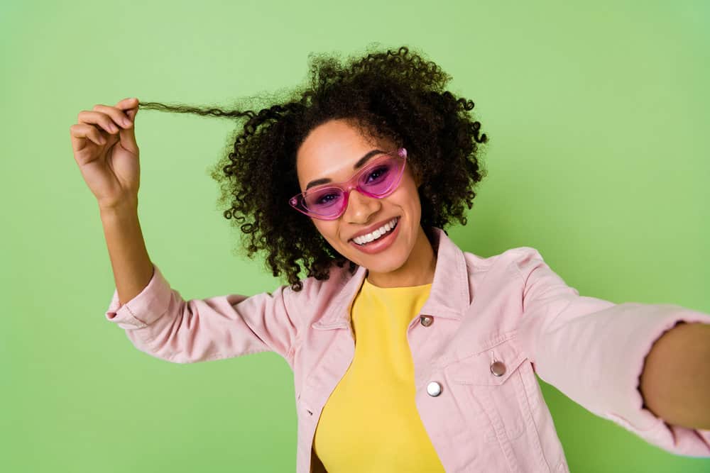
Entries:
{"label": "pink denim jacket worn open over the yellow top, sleeves included", "polygon": [[[535,373],[648,443],[710,457],[710,430],[667,425],[638,391],[652,343],[678,321],[710,323],[709,314],[579,296],[532,247],[484,258],[434,231],[430,298],[407,338],[417,410],[447,472],[569,472]],[[334,266],[300,292],[284,285],[189,301],[154,268],[123,306],[114,291],[107,319],[138,350],[175,363],[277,352],[294,374],[296,471],[324,471],[312,455],[315,428],[353,360],[349,308],[366,268]]]}

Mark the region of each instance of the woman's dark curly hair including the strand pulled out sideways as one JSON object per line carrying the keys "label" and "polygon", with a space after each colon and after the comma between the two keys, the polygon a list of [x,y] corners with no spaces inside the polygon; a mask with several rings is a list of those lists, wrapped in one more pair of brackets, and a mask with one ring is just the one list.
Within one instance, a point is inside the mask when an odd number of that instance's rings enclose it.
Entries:
{"label": "woman's dark curly hair including the strand pulled out sideways", "polygon": [[[454,219],[466,225],[476,183],[486,176],[479,148],[488,138],[470,111],[474,102],[444,89],[451,77],[435,62],[403,46],[368,50],[364,57],[339,61],[309,55],[310,80],[284,96],[241,99],[236,109],[141,102],[140,108],[244,120],[230,140],[231,150],[212,168],[222,189],[224,217],[240,224],[247,256],[266,250],[267,269],[285,272],[294,291],[307,277],[328,279],[332,265],[349,271],[356,264],[320,235],[310,218],[293,211],[288,199],[300,192],[296,154],[310,130],[333,119],[354,123],[369,137],[387,137],[408,150],[408,162],[422,178],[420,224],[444,229]],[[249,105],[252,104],[252,105]],[[254,106],[253,104],[261,104]],[[259,108],[259,111],[245,109]],[[226,150],[225,150],[226,152]],[[444,162],[446,163],[444,165]]]}

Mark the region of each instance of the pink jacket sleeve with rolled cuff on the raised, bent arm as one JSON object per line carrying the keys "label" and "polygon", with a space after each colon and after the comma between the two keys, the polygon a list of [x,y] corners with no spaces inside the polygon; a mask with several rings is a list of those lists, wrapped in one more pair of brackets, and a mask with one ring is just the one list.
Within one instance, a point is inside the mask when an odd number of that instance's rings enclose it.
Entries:
{"label": "pink jacket sleeve with rolled cuff on the raised, bent arm", "polygon": [[131,343],[153,357],[194,363],[273,351],[292,365],[297,321],[288,286],[273,294],[229,294],[185,301],[153,264],[153,277],[119,307],[118,290],[106,312]]}

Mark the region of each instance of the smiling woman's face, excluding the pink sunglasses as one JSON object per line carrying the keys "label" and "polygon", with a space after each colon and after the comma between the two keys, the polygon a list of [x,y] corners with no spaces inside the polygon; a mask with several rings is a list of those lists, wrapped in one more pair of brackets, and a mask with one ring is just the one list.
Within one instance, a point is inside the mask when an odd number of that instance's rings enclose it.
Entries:
{"label": "smiling woman's face, excluding the pink sunglasses", "polygon": [[[300,190],[305,191],[308,183],[315,179],[345,182],[366,165],[363,163],[354,168],[356,162],[368,152],[388,152],[396,148],[396,143],[390,140],[362,136],[349,121],[339,119],[323,123],[311,130],[297,151],[296,170]],[[410,163],[407,163],[402,180],[392,194],[374,199],[353,189],[342,216],[330,221],[311,220],[323,238],[348,260],[366,267],[370,272],[387,273],[399,269],[408,260],[419,234],[421,211],[417,183]],[[391,235],[383,235],[380,243],[374,241],[369,244],[373,249],[378,245],[386,245],[385,248],[368,253],[352,240],[364,231],[369,233],[381,228],[395,217],[398,217],[398,223],[391,230]],[[304,215],[303,218],[310,217]]]}

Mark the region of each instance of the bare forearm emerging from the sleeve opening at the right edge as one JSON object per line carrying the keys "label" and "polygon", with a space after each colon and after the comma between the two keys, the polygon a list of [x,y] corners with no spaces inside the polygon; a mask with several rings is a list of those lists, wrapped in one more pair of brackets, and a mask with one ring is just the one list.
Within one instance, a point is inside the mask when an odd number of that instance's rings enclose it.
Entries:
{"label": "bare forearm emerging from the sleeve opening at the right edge", "polygon": [[710,324],[679,323],[656,340],[639,387],[655,416],[672,425],[710,429]]}

